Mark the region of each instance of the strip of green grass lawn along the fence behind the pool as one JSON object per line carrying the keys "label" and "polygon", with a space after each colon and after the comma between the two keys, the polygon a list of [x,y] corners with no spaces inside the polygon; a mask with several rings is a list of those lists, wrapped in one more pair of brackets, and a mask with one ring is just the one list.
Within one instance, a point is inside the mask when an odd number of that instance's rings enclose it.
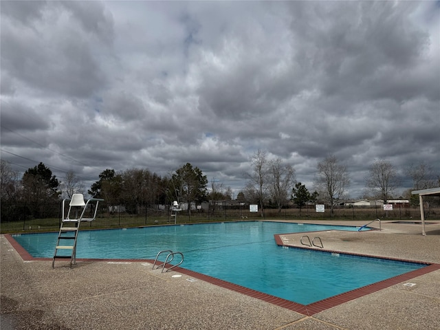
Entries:
{"label": "strip of green grass lawn along the fence behind the pool", "polygon": [[[283,209],[265,210],[265,217],[261,217],[260,212],[249,212],[248,210],[216,210],[208,215],[208,212],[192,212],[191,215],[186,211],[177,214],[177,223],[206,223],[217,221],[240,221],[240,220],[261,220],[261,219],[279,219],[292,221],[311,220],[362,220],[371,221],[379,217],[383,220],[412,220],[419,221],[419,208],[410,208],[405,210],[393,210],[385,213],[380,209],[351,209],[338,208],[335,210],[334,217],[330,216],[329,209],[324,213],[317,213],[315,210],[303,209]],[[440,209],[432,208],[430,214],[426,217],[427,221],[440,220]],[[58,231],[61,219],[25,219],[19,221],[1,221],[1,233],[14,232],[50,232]],[[166,225],[174,224],[174,218],[170,217],[166,212],[155,212],[152,214],[144,214],[135,216],[130,214],[98,214],[96,220],[81,224],[82,229],[98,229],[98,228],[128,228],[138,227],[142,225]]]}

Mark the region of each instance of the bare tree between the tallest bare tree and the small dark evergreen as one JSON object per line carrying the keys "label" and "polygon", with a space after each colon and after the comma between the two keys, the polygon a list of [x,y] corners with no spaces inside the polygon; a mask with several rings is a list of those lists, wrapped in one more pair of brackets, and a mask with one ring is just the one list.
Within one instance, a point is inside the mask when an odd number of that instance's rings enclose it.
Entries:
{"label": "bare tree between the tallest bare tree and the small dark evergreen", "polygon": [[295,170],[291,165],[283,165],[281,158],[269,162],[269,181],[271,196],[278,212],[287,203],[289,192],[295,181]]}

